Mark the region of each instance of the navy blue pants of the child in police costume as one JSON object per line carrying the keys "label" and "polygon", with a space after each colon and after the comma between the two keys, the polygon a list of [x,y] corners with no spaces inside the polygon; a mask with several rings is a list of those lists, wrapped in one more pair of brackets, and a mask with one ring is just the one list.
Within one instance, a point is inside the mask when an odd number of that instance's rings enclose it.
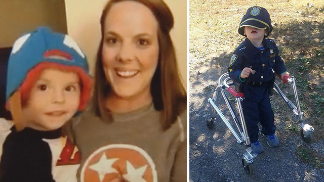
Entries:
{"label": "navy blue pants of the child in police costume", "polygon": [[268,92],[265,92],[263,98],[259,103],[251,99],[243,100],[242,109],[244,112],[245,122],[247,124],[251,143],[258,140],[258,122],[260,122],[262,125],[262,132],[264,135],[270,135],[274,133],[276,126],[273,123],[274,115],[271,108]]}

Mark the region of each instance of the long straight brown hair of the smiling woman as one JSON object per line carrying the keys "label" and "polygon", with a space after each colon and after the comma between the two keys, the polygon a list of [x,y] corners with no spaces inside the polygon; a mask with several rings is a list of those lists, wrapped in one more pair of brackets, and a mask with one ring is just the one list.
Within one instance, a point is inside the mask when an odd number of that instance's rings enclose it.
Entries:
{"label": "long straight brown hair of the smiling woman", "polygon": [[186,109],[187,96],[180,80],[176,54],[170,37],[170,30],[174,24],[173,16],[169,7],[162,0],[111,0],[103,9],[100,19],[102,38],[97,53],[93,109],[96,115],[100,117],[102,101],[108,96],[111,89],[104,74],[101,58],[104,22],[111,6],[123,1],[135,1],[145,5],[151,10],[159,24],[157,32],[158,64],[150,87],[154,108],[163,111],[161,125],[163,129],[167,129],[175,122],[177,116]]}

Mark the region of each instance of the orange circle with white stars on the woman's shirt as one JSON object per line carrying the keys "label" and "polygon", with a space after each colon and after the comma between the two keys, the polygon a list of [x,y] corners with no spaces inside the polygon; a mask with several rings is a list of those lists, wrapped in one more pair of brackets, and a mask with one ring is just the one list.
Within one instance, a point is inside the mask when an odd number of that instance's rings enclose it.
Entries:
{"label": "orange circle with white stars on the woman's shirt", "polygon": [[87,159],[81,181],[155,182],[157,175],[153,161],[144,150],[114,144],[100,148]]}

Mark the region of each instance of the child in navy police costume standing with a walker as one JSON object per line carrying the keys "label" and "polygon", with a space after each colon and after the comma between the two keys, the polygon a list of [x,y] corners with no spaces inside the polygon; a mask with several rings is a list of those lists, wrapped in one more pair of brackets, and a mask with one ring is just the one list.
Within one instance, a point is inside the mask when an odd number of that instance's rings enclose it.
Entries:
{"label": "child in navy police costume standing with a walker", "polygon": [[245,97],[242,109],[251,147],[258,154],[263,152],[263,146],[258,142],[258,122],[267,137],[267,144],[270,147],[279,145],[269,99],[274,82],[272,69],[284,78],[284,82],[287,83],[289,78],[274,41],[265,38],[271,31],[267,10],[257,6],[249,8],[238,28],[238,33],[247,38],[234,51],[228,67],[232,80],[241,85],[240,92]]}

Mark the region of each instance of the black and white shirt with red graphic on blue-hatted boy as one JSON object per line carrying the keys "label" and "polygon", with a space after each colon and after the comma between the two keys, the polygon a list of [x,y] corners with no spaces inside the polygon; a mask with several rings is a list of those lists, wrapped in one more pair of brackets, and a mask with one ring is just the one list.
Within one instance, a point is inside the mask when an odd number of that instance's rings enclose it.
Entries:
{"label": "black and white shirt with red graphic on blue-hatted boy", "polygon": [[0,118],[0,163],[1,182],[73,182],[79,158],[61,128],[17,131],[12,121]]}

